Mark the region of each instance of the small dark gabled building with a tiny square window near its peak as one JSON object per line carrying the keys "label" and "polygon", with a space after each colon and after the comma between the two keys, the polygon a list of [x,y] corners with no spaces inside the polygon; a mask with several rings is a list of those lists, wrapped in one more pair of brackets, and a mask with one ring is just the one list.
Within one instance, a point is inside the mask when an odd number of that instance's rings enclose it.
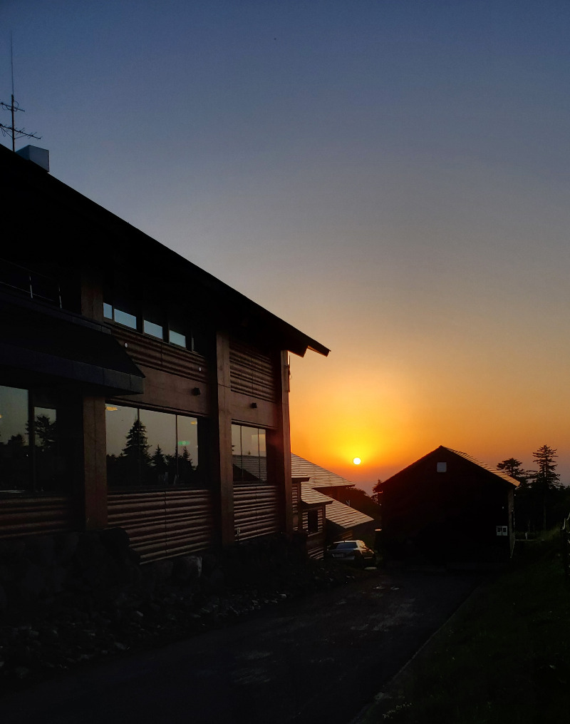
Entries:
{"label": "small dark gabled building with a tiny square window near its peak", "polygon": [[448,564],[505,562],[514,547],[518,484],[441,445],[375,488],[386,553]]}

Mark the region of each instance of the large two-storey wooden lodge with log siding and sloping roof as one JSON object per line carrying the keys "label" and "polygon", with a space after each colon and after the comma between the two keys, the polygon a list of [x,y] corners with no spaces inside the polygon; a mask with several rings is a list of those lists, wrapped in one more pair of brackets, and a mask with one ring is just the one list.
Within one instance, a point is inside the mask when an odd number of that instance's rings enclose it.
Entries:
{"label": "large two-storey wooden lodge with log siding and sloping roof", "polygon": [[328,349],[0,147],[0,538],[142,561],[292,531],[288,353]]}

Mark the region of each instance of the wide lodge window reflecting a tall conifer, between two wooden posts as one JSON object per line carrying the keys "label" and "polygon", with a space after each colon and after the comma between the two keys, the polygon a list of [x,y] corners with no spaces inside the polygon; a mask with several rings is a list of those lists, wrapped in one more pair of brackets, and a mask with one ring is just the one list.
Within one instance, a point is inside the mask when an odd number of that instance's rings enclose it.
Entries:
{"label": "wide lodge window reflecting a tall conifer, between two wooden posts", "polygon": [[206,482],[203,419],[106,404],[111,488]]}

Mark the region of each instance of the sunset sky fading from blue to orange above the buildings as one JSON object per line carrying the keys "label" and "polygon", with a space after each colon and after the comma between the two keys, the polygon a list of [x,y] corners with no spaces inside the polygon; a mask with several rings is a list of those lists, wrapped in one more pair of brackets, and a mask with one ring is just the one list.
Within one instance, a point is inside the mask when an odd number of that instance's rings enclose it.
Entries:
{"label": "sunset sky fading from blue to orange above the buildings", "polygon": [[294,452],[370,489],[548,444],[570,482],[568,0],[3,0],[0,28],[54,176],[331,348],[292,357]]}

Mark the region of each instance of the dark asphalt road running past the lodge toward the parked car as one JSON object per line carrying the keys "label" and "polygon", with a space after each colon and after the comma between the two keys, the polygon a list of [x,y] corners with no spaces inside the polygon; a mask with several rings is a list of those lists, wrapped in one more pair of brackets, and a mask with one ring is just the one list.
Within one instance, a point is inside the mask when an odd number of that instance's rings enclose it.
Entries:
{"label": "dark asphalt road running past the lodge toward the parked car", "polygon": [[0,702],[6,724],[346,724],[477,585],[370,573]]}

